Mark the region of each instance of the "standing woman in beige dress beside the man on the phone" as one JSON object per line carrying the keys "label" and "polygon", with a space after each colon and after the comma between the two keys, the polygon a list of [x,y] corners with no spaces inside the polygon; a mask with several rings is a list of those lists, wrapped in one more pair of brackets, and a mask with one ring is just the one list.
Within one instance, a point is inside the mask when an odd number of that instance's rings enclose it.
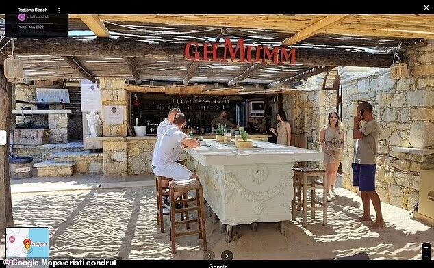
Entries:
{"label": "standing woman in beige dress beside the man on the phone", "polygon": [[336,183],[337,169],[342,161],[344,147],[344,130],[335,111],[329,113],[329,123],[320,131],[320,144],[324,152],[324,166],[327,170],[327,199],[336,196],[333,186]]}

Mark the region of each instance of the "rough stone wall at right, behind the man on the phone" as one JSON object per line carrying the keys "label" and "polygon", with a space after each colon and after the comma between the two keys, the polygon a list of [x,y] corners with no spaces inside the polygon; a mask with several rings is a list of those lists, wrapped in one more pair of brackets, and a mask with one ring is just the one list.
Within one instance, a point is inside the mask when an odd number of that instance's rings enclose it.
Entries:
{"label": "rough stone wall at right, behind the man on the phone", "polygon": [[[342,122],[346,130],[342,161],[344,187],[356,191],[351,181],[355,142],[353,116],[359,101],[366,100],[372,104],[374,117],[381,124],[377,191],[383,202],[412,210],[418,202],[420,170],[434,168],[434,151],[424,150],[434,148],[433,41],[409,51],[408,56],[409,77],[405,79],[391,79],[388,68],[344,67],[338,70],[343,89]],[[311,84],[307,88],[314,92],[285,95],[283,105],[285,109],[292,109],[293,132],[307,135],[308,148],[319,150],[318,130],[325,124],[329,111],[335,110],[336,98],[320,90],[318,85]],[[400,150],[407,147],[423,150]]]}

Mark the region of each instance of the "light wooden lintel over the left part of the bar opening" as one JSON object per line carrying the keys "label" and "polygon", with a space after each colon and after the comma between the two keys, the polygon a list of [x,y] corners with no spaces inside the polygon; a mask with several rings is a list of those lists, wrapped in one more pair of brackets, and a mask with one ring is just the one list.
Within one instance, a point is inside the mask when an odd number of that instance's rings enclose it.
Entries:
{"label": "light wooden lintel over the left part of the bar opening", "polygon": [[177,85],[177,86],[150,86],[150,85],[125,85],[129,92],[164,93],[164,94],[201,94],[205,85]]}

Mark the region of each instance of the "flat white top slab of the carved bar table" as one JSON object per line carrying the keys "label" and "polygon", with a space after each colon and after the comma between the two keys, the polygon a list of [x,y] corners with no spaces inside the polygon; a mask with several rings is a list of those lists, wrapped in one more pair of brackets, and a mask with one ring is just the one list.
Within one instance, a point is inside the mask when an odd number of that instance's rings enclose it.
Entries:
{"label": "flat white top slab of the carved bar table", "polygon": [[[253,148],[235,148],[235,142],[225,143],[207,140],[207,145],[186,148],[201,165],[249,165],[256,163],[294,163],[303,161],[322,161],[324,153],[298,147],[272,144],[253,140]],[[211,146],[209,146],[211,145]]]}

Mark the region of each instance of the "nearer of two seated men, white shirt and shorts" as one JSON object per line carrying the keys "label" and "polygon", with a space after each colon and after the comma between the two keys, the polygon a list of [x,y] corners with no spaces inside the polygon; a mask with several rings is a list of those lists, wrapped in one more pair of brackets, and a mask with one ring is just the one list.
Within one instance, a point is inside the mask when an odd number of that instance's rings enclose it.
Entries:
{"label": "nearer of two seated men, white shirt and shorts", "polygon": [[[186,116],[183,113],[177,113],[173,124],[166,129],[162,135],[159,135],[152,156],[152,171],[157,176],[164,176],[173,180],[188,180],[197,178],[197,175],[188,170],[187,167],[177,163],[179,157],[179,146],[196,148],[199,142],[196,139],[189,138],[181,129],[186,124]],[[183,195],[183,192],[175,193],[175,198]],[[170,200],[165,198],[164,206],[169,208]]]}

